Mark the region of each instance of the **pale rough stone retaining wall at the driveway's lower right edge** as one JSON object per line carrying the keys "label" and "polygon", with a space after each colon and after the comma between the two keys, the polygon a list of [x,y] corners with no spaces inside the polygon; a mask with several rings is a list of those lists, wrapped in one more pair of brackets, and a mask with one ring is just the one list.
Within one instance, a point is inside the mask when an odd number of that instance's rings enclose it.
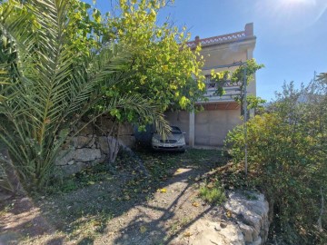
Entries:
{"label": "pale rough stone retaining wall at the driveway's lower right edge", "polygon": [[[269,205],[263,194],[235,191],[228,194],[223,216],[196,220],[172,244],[263,245],[268,237]],[[225,215],[226,214],[226,215]],[[228,217],[227,217],[228,216]],[[224,218],[223,218],[224,217]]]}

